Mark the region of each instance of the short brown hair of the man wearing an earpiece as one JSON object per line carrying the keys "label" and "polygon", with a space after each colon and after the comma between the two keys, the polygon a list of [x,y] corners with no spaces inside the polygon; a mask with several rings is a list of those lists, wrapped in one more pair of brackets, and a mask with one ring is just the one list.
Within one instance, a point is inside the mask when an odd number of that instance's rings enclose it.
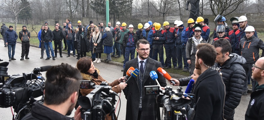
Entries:
{"label": "short brown hair of the man wearing an earpiece", "polygon": [[213,66],[216,59],[216,50],[213,45],[208,43],[201,43],[197,45],[196,56],[197,59],[201,58],[203,63],[207,66]]}

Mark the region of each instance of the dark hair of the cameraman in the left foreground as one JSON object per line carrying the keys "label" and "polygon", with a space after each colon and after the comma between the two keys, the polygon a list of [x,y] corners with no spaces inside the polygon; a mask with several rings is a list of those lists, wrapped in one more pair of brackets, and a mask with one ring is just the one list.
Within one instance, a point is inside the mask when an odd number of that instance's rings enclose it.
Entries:
{"label": "dark hair of the cameraman in the left foreground", "polygon": [[46,72],[45,98],[48,105],[64,103],[73,92],[78,92],[82,79],[78,69],[67,63],[52,66]]}

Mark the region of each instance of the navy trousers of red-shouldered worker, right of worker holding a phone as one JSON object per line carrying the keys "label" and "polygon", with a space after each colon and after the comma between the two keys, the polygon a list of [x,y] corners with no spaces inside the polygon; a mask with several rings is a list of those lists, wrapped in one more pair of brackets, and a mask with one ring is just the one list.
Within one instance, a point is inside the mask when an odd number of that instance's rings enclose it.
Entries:
{"label": "navy trousers of red-shouldered worker, right of worker holding a phone", "polygon": [[172,59],[172,64],[173,67],[177,67],[177,51],[176,51],[176,47],[175,47],[175,43],[171,43],[171,44],[164,44],[164,48],[165,48],[165,53],[166,53],[166,61],[165,66],[169,66],[171,67],[171,59]]}

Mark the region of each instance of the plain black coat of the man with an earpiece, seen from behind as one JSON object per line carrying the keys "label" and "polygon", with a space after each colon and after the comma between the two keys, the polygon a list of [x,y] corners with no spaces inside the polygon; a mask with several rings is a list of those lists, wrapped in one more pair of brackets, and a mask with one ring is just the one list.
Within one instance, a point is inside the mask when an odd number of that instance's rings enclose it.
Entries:
{"label": "plain black coat of the man with an earpiece, seen from behind", "polygon": [[225,86],[218,71],[211,68],[205,70],[197,78],[193,94],[196,103],[194,120],[222,119]]}

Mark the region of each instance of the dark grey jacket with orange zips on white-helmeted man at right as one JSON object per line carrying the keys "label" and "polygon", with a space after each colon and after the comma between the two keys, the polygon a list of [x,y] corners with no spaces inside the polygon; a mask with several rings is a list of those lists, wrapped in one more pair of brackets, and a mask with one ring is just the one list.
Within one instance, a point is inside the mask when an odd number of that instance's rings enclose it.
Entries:
{"label": "dark grey jacket with orange zips on white-helmeted man at right", "polygon": [[[247,63],[255,63],[259,59],[259,49],[264,51],[264,42],[254,35],[249,40],[244,36],[240,40],[239,49],[241,56],[246,59]],[[264,52],[262,52],[261,57],[264,57]]]}

